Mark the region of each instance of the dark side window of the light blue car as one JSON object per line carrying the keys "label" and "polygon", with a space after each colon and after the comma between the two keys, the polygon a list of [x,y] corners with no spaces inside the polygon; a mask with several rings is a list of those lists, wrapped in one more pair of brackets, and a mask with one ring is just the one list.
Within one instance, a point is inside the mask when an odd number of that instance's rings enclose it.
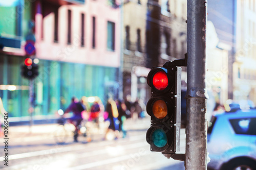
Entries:
{"label": "dark side window of the light blue car", "polygon": [[236,134],[256,135],[256,118],[230,119],[230,124]]}

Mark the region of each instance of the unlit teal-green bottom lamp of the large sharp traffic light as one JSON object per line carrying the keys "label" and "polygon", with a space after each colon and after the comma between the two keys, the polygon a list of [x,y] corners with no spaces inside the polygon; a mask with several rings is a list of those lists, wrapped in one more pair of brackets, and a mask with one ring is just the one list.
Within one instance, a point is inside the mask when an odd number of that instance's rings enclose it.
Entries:
{"label": "unlit teal-green bottom lamp of the large sharp traffic light", "polygon": [[156,147],[158,148],[164,147],[167,144],[166,133],[162,129],[155,130],[152,133],[152,141]]}

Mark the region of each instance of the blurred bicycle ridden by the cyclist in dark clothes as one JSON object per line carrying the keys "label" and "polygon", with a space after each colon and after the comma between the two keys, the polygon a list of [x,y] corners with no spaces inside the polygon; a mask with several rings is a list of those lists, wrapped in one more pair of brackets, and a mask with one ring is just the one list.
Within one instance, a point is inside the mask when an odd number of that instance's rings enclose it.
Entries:
{"label": "blurred bicycle ridden by the cyclist in dark clothes", "polygon": [[[71,123],[67,123],[67,119],[63,115],[63,111],[58,110],[58,114],[60,116],[57,119],[57,128],[53,132],[54,140],[57,144],[65,144],[69,141],[69,139],[73,139],[75,126]],[[82,143],[88,143],[92,141],[92,129],[87,124],[87,120],[83,119],[80,126],[78,127],[78,141]]]}

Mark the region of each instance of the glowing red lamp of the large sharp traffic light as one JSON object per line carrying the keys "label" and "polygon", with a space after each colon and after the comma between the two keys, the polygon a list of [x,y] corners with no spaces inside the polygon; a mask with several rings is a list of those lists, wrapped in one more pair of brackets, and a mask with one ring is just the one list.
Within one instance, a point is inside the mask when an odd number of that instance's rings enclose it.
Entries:
{"label": "glowing red lamp of the large sharp traffic light", "polygon": [[153,85],[158,90],[164,90],[168,86],[168,77],[164,71],[158,71],[154,75]]}

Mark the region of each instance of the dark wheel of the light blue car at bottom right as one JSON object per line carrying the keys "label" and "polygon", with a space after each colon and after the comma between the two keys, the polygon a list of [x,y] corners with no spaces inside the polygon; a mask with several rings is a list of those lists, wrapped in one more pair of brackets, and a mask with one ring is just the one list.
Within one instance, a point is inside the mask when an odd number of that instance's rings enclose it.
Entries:
{"label": "dark wheel of the light blue car at bottom right", "polygon": [[226,165],[227,170],[254,170],[256,162],[250,159],[236,159]]}

